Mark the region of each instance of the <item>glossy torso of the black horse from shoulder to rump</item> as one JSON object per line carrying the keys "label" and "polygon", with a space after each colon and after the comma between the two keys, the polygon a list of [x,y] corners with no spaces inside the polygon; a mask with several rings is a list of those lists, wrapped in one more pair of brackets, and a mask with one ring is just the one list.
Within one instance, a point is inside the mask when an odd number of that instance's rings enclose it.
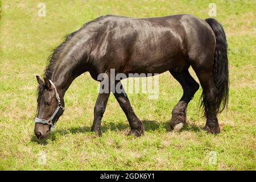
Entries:
{"label": "glossy torso of the black horse from shoulder to rump", "polygon": [[93,55],[119,72],[162,73],[174,67],[179,71],[189,66],[187,59],[198,55],[195,49],[207,46],[211,32],[204,22],[187,14],[142,19],[103,16],[94,28],[98,35]]}

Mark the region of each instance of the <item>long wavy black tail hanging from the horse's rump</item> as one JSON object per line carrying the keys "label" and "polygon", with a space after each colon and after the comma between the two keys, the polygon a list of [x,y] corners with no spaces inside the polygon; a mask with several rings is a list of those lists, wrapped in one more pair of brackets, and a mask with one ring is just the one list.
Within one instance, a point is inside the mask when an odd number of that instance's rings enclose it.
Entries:
{"label": "long wavy black tail hanging from the horse's rump", "polygon": [[[214,52],[214,63],[212,77],[214,85],[218,90],[216,98],[216,114],[221,113],[228,107],[229,98],[229,70],[228,70],[228,44],[223,27],[216,19],[208,18],[205,21],[212,27],[216,37],[216,48]],[[203,96],[203,94],[202,94]],[[202,105],[205,105],[205,97],[203,96]]]}

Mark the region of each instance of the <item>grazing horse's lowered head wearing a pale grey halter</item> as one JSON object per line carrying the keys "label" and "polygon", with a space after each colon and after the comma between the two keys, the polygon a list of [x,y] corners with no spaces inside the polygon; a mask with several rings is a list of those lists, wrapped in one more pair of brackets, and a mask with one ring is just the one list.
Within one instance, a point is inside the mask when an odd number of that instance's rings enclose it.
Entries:
{"label": "grazing horse's lowered head wearing a pale grey halter", "polygon": [[35,118],[35,135],[39,139],[46,138],[49,130],[54,128],[54,124],[64,111],[64,100],[60,101],[59,93],[53,82],[44,78],[44,82],[39,76],[38,80],[38,112]]}

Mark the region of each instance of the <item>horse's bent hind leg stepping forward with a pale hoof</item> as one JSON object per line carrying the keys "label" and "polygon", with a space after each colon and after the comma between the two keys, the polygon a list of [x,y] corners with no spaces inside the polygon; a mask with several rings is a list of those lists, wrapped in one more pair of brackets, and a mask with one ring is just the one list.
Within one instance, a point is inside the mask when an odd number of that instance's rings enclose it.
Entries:
{"label": "horse's bent hind leg stepping forward with a pale hoof", "polygon": [[177,81],[179,81],[183,88],[183,96],[172,110],[171,118],[171,128],[175,131],[179,131],[186,122],[188,103],[199,89],[199,84],[197,84],[194,78],[190,75],[188,69],[184,69],[182,72],[170,70],[170,73]]}

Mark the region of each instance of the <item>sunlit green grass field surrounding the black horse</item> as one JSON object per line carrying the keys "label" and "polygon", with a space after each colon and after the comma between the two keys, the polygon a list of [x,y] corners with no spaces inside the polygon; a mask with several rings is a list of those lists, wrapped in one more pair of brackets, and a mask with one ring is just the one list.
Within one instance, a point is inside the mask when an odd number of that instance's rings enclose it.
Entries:
{"label": "sunlit green grass field surrounding the black horse", "polygon": [[[46,3],[45,17],[38,16],[39,2]],[[34,137],[35,75],[43,75],[48,55],[64,35],[106,14],[142,18],[185,13],[209,18],[210,2],[1,2],[0,169],[255,170],[255,1],[214,1],[216,19],[223,24],[229,43],[230,102],[228,112],[218,117],[221,134],[202,131],[201,89],[189,104],[188,125],[180,133],[170,131],[171,110],[182,89],[169,73],[163,73],[158,100],[129,94],[144,122],[144,137],[126,137],[129,125],[112,95],[102,119],[102,137],[97,138],[90,126],[98,83],[85,73],[67,91],[66,111],[55,133],[42,142]],[[216,164],[208,163],[210,151],[217,154]],[[38,163],[40,152],[46,154],[45,164]]]}

